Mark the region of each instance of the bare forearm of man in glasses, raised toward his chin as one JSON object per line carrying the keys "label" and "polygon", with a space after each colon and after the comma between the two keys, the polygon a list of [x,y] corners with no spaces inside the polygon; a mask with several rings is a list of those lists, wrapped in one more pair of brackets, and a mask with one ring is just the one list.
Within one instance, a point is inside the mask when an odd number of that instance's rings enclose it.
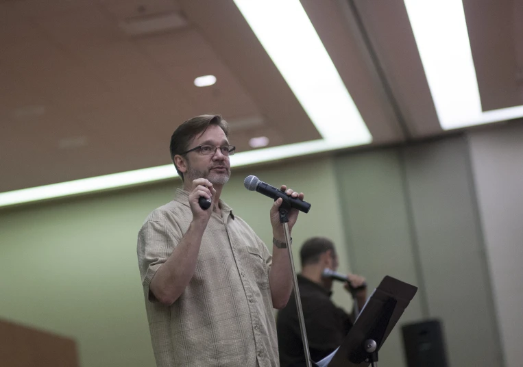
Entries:
{"label": "bare forearm of man in glasses, raised toward his chin", "polygon": [[156,270],[150,289],[161,303],[172,305],[191,281],[205,227],[192,222],[167,261]]}

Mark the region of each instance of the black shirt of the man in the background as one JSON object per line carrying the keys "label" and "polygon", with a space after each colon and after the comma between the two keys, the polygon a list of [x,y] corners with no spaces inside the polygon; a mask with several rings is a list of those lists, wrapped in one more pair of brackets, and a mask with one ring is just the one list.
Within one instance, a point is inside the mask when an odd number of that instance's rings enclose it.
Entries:
{"label": "black shirt of the man in the background", "polygon": [[[298,288],[307,331],[308,348],[313,362],[323,359],[338,346],[352,327],[350,315],[336,307],[323,286],[297,275]],[[305,366],[302,333],[297,317],[294,292],[276,318],[280,367]]]}

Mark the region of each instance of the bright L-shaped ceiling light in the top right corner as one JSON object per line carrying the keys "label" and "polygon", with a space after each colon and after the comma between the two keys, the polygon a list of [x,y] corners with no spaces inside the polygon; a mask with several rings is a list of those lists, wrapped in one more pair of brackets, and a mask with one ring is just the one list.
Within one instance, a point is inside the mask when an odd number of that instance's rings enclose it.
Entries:
{"label": "bright L-shaped ceiling light in the top right corner", "polygon": [[523,117],[523,106],[483,112],[459,0],[404,0],[417,49],[444,130]]}

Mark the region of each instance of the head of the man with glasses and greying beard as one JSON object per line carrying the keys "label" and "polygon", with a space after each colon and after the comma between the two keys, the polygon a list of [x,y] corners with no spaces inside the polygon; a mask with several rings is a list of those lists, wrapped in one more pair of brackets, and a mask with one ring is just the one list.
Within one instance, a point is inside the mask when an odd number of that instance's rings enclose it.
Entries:
{"label": "head of the man with glasses and greying beard", "polygon": [[[228,124],[219,114],[196,116],[182,123],[171,136],[169,147],[171,160],[182,181],[185,181],[186,177],[190,177],[191,180],[203,177],[211,182],[215,180],[213,184],[225,184],[230,176],[230,163],[229,158],[222,155],[219,149],[214,155],[202,155],[199,150],[186,152],[200,143],[212,147],[228,145],[228,135]],[[217,166],[226,168],[211,173],[210,170]]]}

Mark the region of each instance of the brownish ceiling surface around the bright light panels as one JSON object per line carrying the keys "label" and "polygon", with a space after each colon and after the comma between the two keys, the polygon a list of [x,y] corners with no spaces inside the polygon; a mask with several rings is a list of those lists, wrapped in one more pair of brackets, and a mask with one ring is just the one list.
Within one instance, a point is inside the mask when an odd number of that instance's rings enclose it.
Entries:
{"label": "brownish ceiling surface around the bright light panels", "polygon": [[[444,133],[401,0],[301,3],[372,144]],[[483,110],[523,105],[523,2],[463,5]],[[321,138],[232,0],[0,0],[0,50],[0,192],[169,164],[199,114],[239,151]]]}

